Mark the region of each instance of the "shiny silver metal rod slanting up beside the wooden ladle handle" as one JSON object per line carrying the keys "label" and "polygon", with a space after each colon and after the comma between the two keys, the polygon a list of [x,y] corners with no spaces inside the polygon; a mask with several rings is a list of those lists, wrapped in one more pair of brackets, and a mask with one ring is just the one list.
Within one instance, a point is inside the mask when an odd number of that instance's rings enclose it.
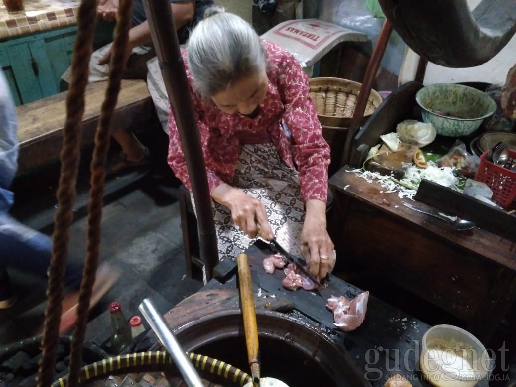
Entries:
{"label": "shiny silver metal rod slanting up beside the wooden ladle handle", "polygon": [[159,341],[162,342],[163,346],[170,353],[170,356],[174,359],[186,384],[188,384],[189,387],[204,387],[204,383],[197,373],[197,370],[193,367],[190,359],[186,356],[185,351],[179,345],[178,340],[170,331],[167,322],[163,316],[158,313],[152,301],[149,298],[144,299],[138,309],[143,314],[143,317],[145,317],[152,330],[156,332]]}

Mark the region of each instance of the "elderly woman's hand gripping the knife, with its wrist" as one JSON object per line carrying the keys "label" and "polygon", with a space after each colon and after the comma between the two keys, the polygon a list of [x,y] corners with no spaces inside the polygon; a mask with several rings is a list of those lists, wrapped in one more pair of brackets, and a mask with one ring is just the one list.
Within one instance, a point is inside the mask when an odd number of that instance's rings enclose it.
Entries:
{"label": "elderly woman's hand gripping the knife, with its wrist", "polygon": [[265,205],[260,200],[225,183],[212,190],[212,198],[230,209],[233,222],[249,237],[256,237],[258,224],[263,238],[270,240],[274,237]]}

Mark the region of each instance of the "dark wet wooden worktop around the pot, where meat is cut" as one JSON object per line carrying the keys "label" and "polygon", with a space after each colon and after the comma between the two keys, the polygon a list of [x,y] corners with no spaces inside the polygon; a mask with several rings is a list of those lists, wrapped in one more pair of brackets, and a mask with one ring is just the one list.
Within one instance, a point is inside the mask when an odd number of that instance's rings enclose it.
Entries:
{"label": "dark wet wooden worktop around the pot, where meat is cut", "polygon": [[[263,260],[271,254],[266,243],[257,241],[246,253],[251,266],[256,308],[267,307],[294,313],[299,318],[311,321],[311,324],[326,327],[332,340],[350,353],[363,370],[364,378],[374,387],[383,387],[385,378],[395,373],[405,375],[414,386],[430,385],[422,380],[418,366],[420,341],[430,328],[424,322],[369,295],[363,324],[353,332],[342,332],[333,326],[333,314],[326,309],[325,297],[302,289],[287,291],[281,285],[284,278],[282,270],[277,270],[274,275],[265,272]],[[330,276],[328,284],[337,295],[349,298],[363,292],[334,276]],[[173,330],[219,310],[239,309],[237,287],[235,275],[223,283],[213,279],[198,293],[171,309],[165,319]],[[260,289],[261,297],[258,296]],[[478,384],[483,385],[488,384]]]}

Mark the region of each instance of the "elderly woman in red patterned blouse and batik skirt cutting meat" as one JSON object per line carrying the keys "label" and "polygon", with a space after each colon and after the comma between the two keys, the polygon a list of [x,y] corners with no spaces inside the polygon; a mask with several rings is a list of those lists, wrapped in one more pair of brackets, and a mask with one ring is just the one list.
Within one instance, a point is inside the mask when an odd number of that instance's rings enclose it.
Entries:
{"label": "elderly woman in red patterned blouse and batik skirt cutting meat", "polygon": [[[256,237],[302,255],[319,279],[335,264],[327,232],[330,149],[294,56],[234,14],[208,8],[183,53],[214,201],[219,258]],[[190,189],[173,113],[168,163]]]}

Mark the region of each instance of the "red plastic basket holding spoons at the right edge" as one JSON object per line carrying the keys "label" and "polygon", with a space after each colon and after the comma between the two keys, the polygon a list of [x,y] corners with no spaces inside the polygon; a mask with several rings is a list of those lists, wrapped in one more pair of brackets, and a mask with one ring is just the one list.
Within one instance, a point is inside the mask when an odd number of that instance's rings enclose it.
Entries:
{"label": "red plastic basket holding spoons at the right edge", "polygon": [[[493,201],[504,209],[507,209],[516,199],[516,172],[499,167],[486,160],[488,152],[480,156],[475,180],[486,183],[493,191]],[[514,163],[516,152],[509,150],[508,163]]]}

